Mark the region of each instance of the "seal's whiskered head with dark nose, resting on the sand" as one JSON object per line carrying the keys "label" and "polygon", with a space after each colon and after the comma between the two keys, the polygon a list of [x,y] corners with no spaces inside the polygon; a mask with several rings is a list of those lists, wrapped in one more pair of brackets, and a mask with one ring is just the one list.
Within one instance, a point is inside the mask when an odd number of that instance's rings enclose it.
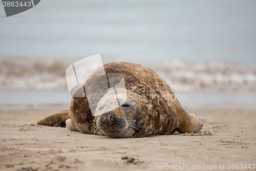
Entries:
{"label": "seal's whiskered head with dark nose, resting on the sand", "polygon": [[135,137],[139,132],[138,113],[141,107],[131,91],[122,90],[125,94],[127,91],[127,99],[124,93],[118,93],[120,91],[111,90],[99,101],[96,109],[97,127],[112,138]]}

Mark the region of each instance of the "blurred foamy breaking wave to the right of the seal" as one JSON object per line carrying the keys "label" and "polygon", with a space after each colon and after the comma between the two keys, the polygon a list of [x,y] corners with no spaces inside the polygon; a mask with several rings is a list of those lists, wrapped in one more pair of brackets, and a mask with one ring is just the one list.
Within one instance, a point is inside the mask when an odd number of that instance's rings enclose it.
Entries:
{"label": "blurred foamy breaking wave to the right of the seal", "polygon": [[169,85],[193,85],[195,91],[256,91],[256,70],[244,63],[173,60],[148,67]]}

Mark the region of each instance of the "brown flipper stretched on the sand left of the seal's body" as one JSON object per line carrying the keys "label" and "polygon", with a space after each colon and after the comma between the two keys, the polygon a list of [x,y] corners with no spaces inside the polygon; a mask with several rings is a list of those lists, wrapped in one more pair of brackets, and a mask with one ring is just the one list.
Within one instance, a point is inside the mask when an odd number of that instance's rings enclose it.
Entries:
{"label": "brown flipper stretched on the sand left of the seal's body", "polygon": [[69,117],[69,109],[62,110],[57,113],[53,113],[52,115],[40,119],[37,121],[37,125],[47,125],[47,126],[55,126],[55,127],[66,127],[66,121],[70,119]]}

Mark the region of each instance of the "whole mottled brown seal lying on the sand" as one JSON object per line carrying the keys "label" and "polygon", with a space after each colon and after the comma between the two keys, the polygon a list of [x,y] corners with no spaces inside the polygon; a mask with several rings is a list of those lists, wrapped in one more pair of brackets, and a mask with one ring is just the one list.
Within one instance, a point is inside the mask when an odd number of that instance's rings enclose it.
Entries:
{"label": "whole mottled brown seal lying on the sand", "polygon": [[118,108],[104,112],[112,105],[112,99],[117,97],[115,91],[111,90],[103,94],[98,102],[96,113],[103,114],[93,117],[87,97],[72,97],[69,110],[41,119],[37,124],[62,126],[69,115],[66,124],[70,130],[113,138],[169,135],[175,130],[180,133],[201,130],[203,124],[200,119],[181,107],[172,88],[153,70],[124,62],[105,64],[104,69],[107,74],[123,75],[126,89],[121,91],[126,91],[127,99],[122,98],[122,94],[118,96],[122,105],[119,103]]}

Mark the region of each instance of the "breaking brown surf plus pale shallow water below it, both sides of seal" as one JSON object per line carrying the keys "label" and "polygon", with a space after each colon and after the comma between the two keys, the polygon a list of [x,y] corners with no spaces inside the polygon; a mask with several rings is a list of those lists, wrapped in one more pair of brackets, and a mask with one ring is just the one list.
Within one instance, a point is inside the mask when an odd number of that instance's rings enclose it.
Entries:
{"label": "breaking brown surf plus pale shallow water below it, both sides of seal", "polygon": [[[51,60],[1,61],[0,108],[69,108],[65,76],[69,65]],[[174,60],[145,65],[173,87],[185,108],[256,106],[256,70],[245,64]]]}

